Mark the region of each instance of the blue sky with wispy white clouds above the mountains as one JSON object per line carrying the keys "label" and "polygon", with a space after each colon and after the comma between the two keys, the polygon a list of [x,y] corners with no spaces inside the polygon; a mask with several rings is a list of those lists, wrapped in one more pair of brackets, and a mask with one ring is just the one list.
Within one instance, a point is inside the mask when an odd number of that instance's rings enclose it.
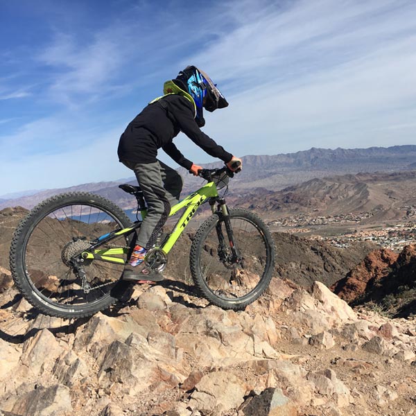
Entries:
{"label": "blue sky with wispy white clouds above the mountains", "polygon": [[131,176],[119,136],[187,64],[234,155],[416,144],[415,45],[413,0],[0,1],[0,196]]}

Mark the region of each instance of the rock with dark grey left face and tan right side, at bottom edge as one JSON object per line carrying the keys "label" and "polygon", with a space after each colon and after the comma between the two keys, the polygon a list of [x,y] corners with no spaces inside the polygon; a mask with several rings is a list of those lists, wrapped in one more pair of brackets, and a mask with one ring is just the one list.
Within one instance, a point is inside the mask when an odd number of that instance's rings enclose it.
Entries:
{"label": "rock with dark grey left face and tan right side, at bottom edge", "polygon": [[268,388],[260,395],[249,397],[241,410],[244,416],[297,416],[295,405],[279,388]]}

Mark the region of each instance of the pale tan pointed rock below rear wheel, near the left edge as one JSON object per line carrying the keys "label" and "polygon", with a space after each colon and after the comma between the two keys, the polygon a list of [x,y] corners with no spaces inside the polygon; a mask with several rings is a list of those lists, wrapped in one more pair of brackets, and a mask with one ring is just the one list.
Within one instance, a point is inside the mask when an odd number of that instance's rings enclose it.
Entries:
{"label": "pale tan pointed rock below rear wheel, near the left edge", "polygon": [[42,374],[52,370],[55,360],[64,352],[53,334],[48,329],[38,331],[23,345],[21,363],[26,365],[33,374]]}

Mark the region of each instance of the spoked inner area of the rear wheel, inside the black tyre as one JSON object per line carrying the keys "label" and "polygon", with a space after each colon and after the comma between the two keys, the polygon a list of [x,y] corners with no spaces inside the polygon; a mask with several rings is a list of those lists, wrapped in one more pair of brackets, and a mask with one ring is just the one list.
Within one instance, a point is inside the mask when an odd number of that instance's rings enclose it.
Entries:
{"label": "spoked inner area of the rear wheel, inside the black tyre", "polygon": [[[123,227],[116,216],[88,203],[62,205],[44,215],[24,248],[26,274],[37,295],[46,303],[73,307],[106,297],[120,279],[123,264],[99,260],[78,263],[75,259],[89,248],[89,241]],[[128,245],[126,238],[114,239],[112,246],[103,245],[101,249],[123,248]],[[76,264],[84,275],[79,275]]]}

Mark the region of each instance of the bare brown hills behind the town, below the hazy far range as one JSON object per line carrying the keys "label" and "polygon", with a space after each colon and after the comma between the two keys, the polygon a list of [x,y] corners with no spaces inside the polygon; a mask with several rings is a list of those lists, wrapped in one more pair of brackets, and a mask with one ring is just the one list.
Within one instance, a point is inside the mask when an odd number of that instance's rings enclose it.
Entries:
{"label": "bare brown hills behind the town, below the hazy far range", "polygon": [[250,190],[231,200],[232,205],[262,216],[336,216],[372,211],[372,222],[416,217],[416,171],[315,178],[281,191]]}

